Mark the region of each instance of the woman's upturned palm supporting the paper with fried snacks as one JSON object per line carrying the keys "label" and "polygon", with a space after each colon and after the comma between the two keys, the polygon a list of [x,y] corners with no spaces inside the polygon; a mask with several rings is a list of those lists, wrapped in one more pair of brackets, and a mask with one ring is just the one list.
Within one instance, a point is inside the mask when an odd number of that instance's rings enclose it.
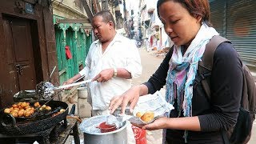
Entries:
{"label": "woman's upturned palm supporting the paper with fried snacks", "polygon": [[159,130],[159,129],[165,129],[167,127],[167,122],[169,118],[161,117],[156,119],[154,122],[147,124],[147,125],[136,125],[133,123],[134,126],[138,126],[145,130]]}

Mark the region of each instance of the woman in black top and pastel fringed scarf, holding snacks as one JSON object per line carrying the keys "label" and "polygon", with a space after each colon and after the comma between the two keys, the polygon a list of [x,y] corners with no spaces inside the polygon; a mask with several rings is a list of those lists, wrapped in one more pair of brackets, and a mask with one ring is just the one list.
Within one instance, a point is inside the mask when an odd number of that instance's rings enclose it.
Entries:
{"label": "woman in black top and pastel fringed scarf, holding snacks", "polygon": [[163,139],[169,144],[225,143],[223,135],[236,123],[242,95],[242,63],[234,46],[222,42],[214,51],[209,101],[202,85],[193,85],[206,44],[218,35],[210,25],[208,0],[158,0],[157,8],[174,42],[173,53],[166,54],[148,82],[112,98],[111,112],[118,106],[124,110],[128,103],[132,111],[139,96],[166,85],[166,101],[175,109],[142,129],[164,129]]}

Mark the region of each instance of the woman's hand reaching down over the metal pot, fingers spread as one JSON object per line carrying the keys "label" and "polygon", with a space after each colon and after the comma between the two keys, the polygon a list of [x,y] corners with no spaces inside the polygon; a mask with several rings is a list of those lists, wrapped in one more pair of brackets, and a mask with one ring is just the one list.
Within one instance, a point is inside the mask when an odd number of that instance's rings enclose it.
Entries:
{"label": "woman's hand reaching down over the metal pot, fingers spread", "polygon": [[127,90],[124,94],[115,96],[110,101],[110,114],[114,113],[114,110],[121,106],[121,114],[125,114],[126,106],[130,104],[130,113],[133,112],[134,107],[138,102],[140,96],[141,86],[133,86]]}

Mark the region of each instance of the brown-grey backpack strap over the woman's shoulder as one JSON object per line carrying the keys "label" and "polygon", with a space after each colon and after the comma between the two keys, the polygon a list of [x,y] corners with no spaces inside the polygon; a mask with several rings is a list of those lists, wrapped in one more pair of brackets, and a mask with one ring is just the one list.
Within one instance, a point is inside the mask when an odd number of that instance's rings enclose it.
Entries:
{"label": "brown-grey backpack strap over the woman's shoulder", "polygon": [[202,61],[198,63],[198,72],[199,78],[202,78],[202,87],[206,91],[207,98],[210,100],[210,78],[206,77],[210,76],[211,70],[214,64],[214,52],[217,47],[222,42],[230,42],[226,38],[223,38],[219,35],[215,35],[213,38],[210,38],[210,41],[206,44],[206,50],[202,56]]}

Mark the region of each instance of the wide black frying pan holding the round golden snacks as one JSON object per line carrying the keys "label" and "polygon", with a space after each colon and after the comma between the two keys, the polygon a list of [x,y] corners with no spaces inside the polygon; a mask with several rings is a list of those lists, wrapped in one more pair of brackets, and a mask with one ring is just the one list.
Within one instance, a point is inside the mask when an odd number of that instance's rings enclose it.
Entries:
{"label": "wide black frying pan holding the round golden snacks", "polygon": [[[41,101],[40,101],[41,103]],[[12,115],[3,113],[0,111],[0,133],[1,134],[32,134],[42,130],[50,129],[52,126],[56,126],[58,122],[66,119],[68,113],[68,105],[66,102],[50,101],[48,105],[52,108],[53,112],[49,114],[37,114],[34,118],[14,118]],[[61,107],[65,111],[61,114],[52,116],[54,110]]]}

